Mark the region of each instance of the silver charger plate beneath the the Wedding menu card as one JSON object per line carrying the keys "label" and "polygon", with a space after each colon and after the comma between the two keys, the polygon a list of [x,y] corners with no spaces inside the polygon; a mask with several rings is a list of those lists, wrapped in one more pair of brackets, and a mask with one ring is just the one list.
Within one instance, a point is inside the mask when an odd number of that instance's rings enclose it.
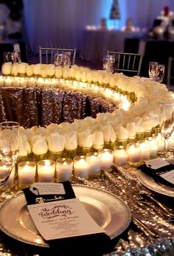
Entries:
{"label": "silver charger plate beneath the the Wedding menu card", "polygon": [[[131,221],[127,204],[112,193],[84,185],[73,185],[77,198],[111,239],[122,234]],[[49,247],[39,235],[27,210],[24,193],[10,198],[0,208],[0,229],[10,237],[35,246]]]}

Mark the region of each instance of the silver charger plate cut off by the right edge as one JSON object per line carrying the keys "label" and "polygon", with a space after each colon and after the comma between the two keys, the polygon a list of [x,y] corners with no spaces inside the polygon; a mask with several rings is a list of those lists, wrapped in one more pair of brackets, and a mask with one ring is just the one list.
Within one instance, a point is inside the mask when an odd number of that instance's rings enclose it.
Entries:
{"label": "silver charger plate cut off by the right edge", "polygon": [[148,189],[164,196],[174,197],[174,187],[170,187],[170,186],[161,184],[159,181],[158,182],[155,181],[152,176],[147,175],[141,170],[139,170],[136,173],[136,177]]}

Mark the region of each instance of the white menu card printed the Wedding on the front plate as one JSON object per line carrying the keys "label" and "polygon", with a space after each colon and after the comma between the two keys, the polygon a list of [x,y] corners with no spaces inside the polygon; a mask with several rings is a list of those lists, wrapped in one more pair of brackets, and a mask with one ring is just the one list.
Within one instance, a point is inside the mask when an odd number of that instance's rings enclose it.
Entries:
{"label": "white menu card printed the Wedding on the front plate", "polygon": [[27,205],[35,226],[45,240],[105,232],[78,198]]}

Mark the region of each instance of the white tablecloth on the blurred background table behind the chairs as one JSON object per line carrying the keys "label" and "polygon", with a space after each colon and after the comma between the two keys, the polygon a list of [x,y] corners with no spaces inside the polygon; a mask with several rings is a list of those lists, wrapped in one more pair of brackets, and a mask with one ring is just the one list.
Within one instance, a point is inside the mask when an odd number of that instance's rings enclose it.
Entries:
{"label": "white tablecloth on the blurred background table behind the chairs", "polygon": [[125,38],[139,38],[145,32],[120,30],[84,30],[80,45],[80,58],[83,60],[100,61],[107,50],[123,52]]}

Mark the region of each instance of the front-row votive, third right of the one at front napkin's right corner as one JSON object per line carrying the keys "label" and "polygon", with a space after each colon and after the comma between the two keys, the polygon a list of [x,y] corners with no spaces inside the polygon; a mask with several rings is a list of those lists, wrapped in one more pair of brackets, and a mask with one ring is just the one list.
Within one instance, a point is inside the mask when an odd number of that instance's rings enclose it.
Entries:
{"label": "front-row votive, third right of the one at front napkin's right corner", "polygon": [[102,148],[98,151],[98,155],[101,157],[101,168],[111,171],[111,165],[113,165],[114,160],[114,151],[109,148]]}

